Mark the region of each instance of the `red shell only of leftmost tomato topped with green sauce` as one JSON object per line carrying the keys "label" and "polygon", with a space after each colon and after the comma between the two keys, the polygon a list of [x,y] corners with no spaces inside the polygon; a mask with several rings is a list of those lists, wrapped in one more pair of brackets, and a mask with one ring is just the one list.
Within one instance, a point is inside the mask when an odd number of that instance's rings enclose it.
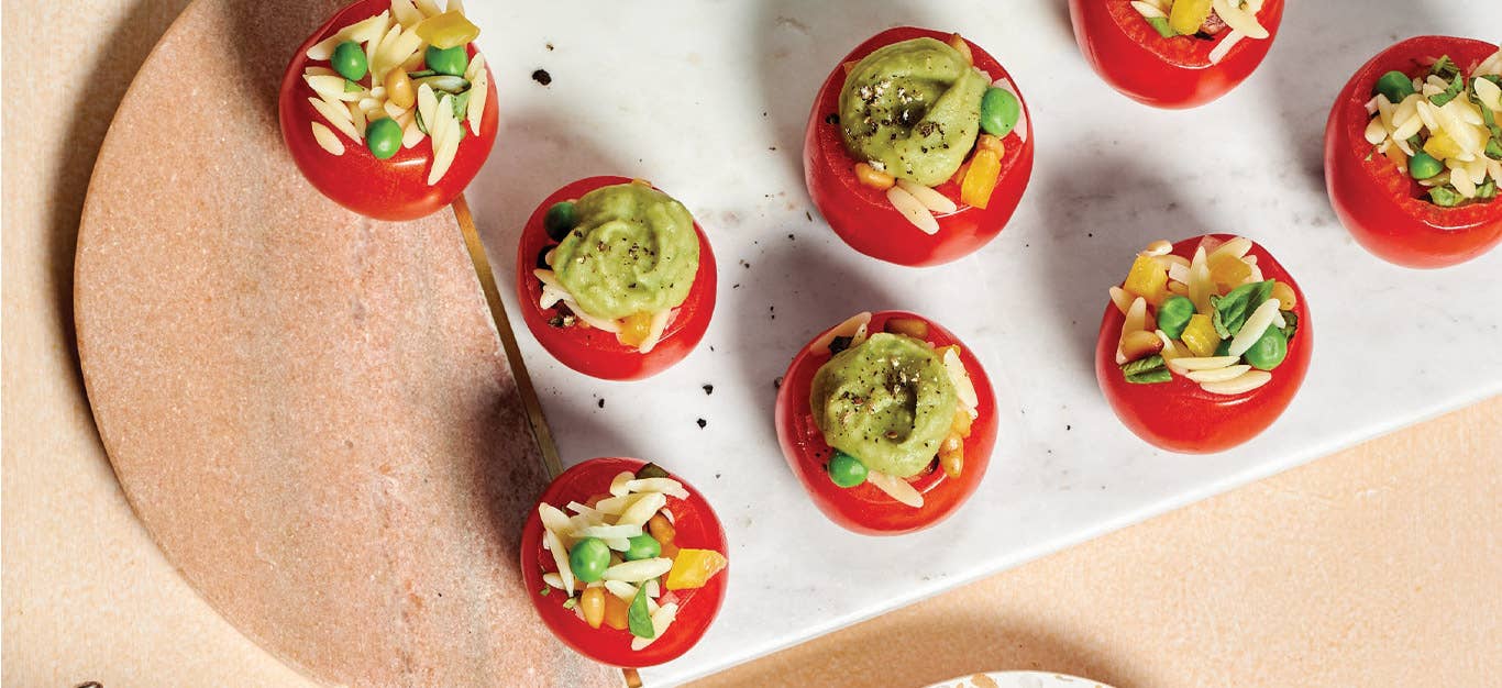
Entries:
{"label": "red shell only of leftmost tomato topped with green sauce", "polygon": [[542,222],[548,209],[560,201],[577,200],[601,186],[629,182],[626,177],[589,177],[554,191],[532,213],[532,219],[521,230],[521,243],[517,248],[517,294],[524,302],[521,317],[527,321],[532,336],[536,336],[542,349],[563,365],[602,380],[640,380],[682,361],[704,338],[715,311],[715,254],[709,249],[704,228],[694,222],[694,231],[698,233],[698,273],[694,276],[688,299],[676,308],[677,312],[662,330],[662,339],[650,353],[622,344],[611,332],[577,324],[572,327],[548,324],[557,311],[541,308],[542,282],[532,273],[539,267],[542,251],[556,243],[548,239]]}

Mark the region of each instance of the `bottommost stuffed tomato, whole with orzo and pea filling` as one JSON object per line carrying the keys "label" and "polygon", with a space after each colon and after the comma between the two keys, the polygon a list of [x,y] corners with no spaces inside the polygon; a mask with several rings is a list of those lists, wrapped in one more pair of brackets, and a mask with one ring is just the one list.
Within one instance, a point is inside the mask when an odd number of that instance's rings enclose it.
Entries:
{"label": "bottommost stuffed tomato, whole with orzo and pea filling", "polygon": [[725,598],[725,530],[692,485],[635,458],[565,470],[521,530],[521,575],[553,632],[616,667],[688,652]]}

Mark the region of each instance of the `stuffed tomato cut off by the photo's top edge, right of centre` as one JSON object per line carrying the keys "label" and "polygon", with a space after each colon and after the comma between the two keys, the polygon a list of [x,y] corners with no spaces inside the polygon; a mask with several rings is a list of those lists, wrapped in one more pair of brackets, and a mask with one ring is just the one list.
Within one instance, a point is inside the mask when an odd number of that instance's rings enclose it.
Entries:
{"label": "stuffed tomato cut off by the photo's top edge, right of centre", "polygon": [[1211,102],[1251,77],[1283,0],[1069,0],[1074,38],[1113,89],[1160,108]]}

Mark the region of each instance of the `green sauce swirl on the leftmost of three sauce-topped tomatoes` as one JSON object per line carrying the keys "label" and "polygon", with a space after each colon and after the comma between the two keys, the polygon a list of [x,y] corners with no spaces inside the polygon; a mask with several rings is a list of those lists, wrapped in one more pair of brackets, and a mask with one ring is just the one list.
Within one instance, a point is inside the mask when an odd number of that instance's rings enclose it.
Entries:
{"label": "green sauce swirl on the leftmost of three sauce-topped tomatoes", "polygon": [[698,273],[698,234],[682,203],[643,183],[604,186],[574,203],[578,225],[553,254],[553,272],[595,317],[676,308]]}

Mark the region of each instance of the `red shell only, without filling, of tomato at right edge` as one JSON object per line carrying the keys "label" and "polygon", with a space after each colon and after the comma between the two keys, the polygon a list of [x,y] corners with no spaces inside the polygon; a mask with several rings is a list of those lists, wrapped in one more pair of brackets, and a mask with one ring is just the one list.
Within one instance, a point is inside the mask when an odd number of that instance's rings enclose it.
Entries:
{"label": "red shell only, without filling, of tomato at right edge", "polygon": [[1407,267],[1445,267],[1502,242],[1502,201],[1440,207],[1422,186],[1367,143],[1367,102],[1391,71],[1427,72],[1419,59],[1448,54],[1461,69],[1497,51],[1493,44],[1419,36],[1371,59],[1335,99],[1325,126],[1325,185],[1341,224],[1367,251]]}

